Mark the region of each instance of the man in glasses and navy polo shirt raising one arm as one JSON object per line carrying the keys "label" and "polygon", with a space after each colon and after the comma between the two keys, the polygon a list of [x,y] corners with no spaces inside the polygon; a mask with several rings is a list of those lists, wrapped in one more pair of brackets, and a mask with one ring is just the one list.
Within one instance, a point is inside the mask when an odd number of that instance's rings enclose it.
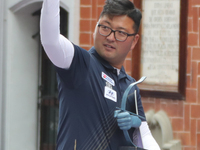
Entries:
{"label": "man in glasses and navy polo shirt raising one arm", "polygon": [[[159,149],[145,119],[116,110],[126,88],[135,82],[123,68],[139,39],[141,13],[134,4],[129,0],[106,1],[94,31],[94,47],[89,51],[60,35],[59,0],[44,0],[41,12],[42,45],[58,77],[57,149],[118,150],[130,145],[123,130],[133,139],[140,126],[144,148]],[[139,115],[145,118],[138,87],[130,93],[135,90]],[[128,98],[127,110],[135,112],[134,96]]]}

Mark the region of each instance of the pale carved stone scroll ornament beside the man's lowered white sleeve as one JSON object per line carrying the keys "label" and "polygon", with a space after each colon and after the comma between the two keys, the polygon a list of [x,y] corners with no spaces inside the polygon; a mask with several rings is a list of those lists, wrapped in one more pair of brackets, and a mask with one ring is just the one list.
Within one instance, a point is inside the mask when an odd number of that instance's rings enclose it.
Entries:
{"label": "pale carved stone scroll ornament beside the man's lowered white sleeve", "polygon": [[151,133],[162,150],[181,150],[181,141],[173,139],[173,129],[164,111],[145,113]]}

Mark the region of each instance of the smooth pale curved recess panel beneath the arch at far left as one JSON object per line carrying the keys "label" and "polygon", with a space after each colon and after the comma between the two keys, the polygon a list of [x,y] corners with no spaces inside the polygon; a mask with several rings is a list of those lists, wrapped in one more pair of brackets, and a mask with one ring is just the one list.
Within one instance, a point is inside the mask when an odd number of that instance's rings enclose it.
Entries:
{"label": "smooth pale curved recess panel beneath the arch at far left", "polygon": [[6,62],[6,150],[34,150],[37,137],[38,20],[9,12]]}

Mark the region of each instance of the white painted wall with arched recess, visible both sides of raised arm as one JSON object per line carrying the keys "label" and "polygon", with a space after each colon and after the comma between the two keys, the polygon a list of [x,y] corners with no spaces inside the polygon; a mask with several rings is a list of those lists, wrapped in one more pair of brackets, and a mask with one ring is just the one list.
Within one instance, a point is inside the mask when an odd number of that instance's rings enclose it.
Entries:
{"label": "white painted wall with arched recess, visible both sides of raised arm", "polygon": [[[3,1],[3,0],[0,0]],[[40,0],[4,0],[5,20],[0,17],[0,27],[5,21],[5,30],[0,30],[4,38],[5,53],[0,53],[0,138],[1,150],[37,149],[37,100],[38,100],[38,41],[32,35],[39,30],[39,18],[31,15],[41,7]],[[1,3],[0,8],[2,8]],[[69,12],[69,39],[79,44],[79,0],[63,0],[61,6]],[[2,10],[0,11],[0,13]],[[5,60],[5,63],[2,63]],[[2,78],[4,77],[4,78]],[[3,87],[3,88],[2,88]],[[3,93],[2,93],[3,91]],[[3,101],[0,100],[0,104]],[[4,131],[4,132],[2,132]],[[4,134],[5,133],[5,136]],[[5,139],[4,141],[2,139]]]}

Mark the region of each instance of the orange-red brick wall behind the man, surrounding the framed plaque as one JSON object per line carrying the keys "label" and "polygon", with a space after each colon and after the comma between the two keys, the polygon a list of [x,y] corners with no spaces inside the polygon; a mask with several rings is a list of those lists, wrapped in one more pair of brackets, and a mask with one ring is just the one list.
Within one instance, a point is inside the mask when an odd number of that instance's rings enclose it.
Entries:
{"label": "orange-red brick wall behind the man, surrounding the framed plaque", "polygon": [[[104,0],[80,0],[80,46],[93,45],[93,32]],[[188,50],[186,100],[143,98],[145,111],[164,110],[169,116],[174,139],[182,150],[200,150],[200,0],[188,0]],[[131,73],[131,52],[124,63]]]}

